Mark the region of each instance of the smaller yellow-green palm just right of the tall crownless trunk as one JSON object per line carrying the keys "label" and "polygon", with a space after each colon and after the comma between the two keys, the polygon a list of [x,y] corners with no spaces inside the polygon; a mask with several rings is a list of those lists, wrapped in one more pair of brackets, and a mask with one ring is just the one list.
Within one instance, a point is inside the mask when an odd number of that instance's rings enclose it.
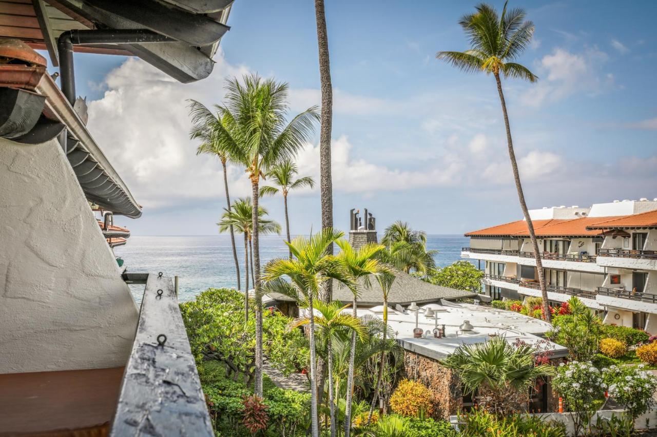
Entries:
{"label": "smaller yellow-green palm just right of the tall crownless trunk", "polygon": [[[385,272],[391,273],[392,270],[384,264],[381,264],[376,259],[376,255],[382,250],[385,249],[383,245],[368,243],[363,245],[359,249],[355,250],[351,247],[350,243],[346,240],[337,241],[338,246],[342,251],[338,253],[338,259],[344,262],[346,268],[348,268],[351,276],[355,281],[362,281],[365,287],[371,286],[370,276],[383,274]],[[357,298],[358,298],[358,289],[353,288],[353,316],[357,315]],[[352,401],[352,391],[353,391],[353,371],[354,371],[354,359],[355,359],[355,348],[356,348],[356,335],[355,333],[351,334],[351,351],[349,356],[349,375],[347,377],[347,404],[346,404],[346,417],[351,417],[351,401]],[[349,437],[351,431],[351,423],[345,421],[344,423],[344,435]]]}

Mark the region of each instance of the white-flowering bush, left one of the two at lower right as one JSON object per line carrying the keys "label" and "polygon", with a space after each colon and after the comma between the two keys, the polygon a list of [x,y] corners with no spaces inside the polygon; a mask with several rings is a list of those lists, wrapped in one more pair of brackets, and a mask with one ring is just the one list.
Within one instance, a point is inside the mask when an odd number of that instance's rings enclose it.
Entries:
{"label": "white-flowering bush, left one of the two at lower right", "polygon": [[590,362],[562,363],[556,370],[552,385],[564,398],[568,410],[574,413],[575,434],[581,435],[589,428],[593,413],[604,402],[606,385],[602,373]]}

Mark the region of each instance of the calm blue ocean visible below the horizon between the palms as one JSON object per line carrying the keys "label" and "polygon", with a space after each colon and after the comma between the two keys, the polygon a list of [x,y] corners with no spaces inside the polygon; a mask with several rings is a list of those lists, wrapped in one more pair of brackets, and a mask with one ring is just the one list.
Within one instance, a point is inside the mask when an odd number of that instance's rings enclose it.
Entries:
{"label": "calm blue ocean visible below the horizon between the palms", "polygon": [[[235,236],[237,257],[244,285],[244,239]],[[431,235],[427,248],[438,250],[436,264],[444,267],[461,259],[461,247],[469,238],[459,235]],[[127,272],[157,273],[179,277],[179,300],[193,300],[210,287],[235,286],[235,262],[231,238],[219,236],[131,236],[127,244],[116,247],[114,253],[124,259]],[[281,236],[260,237],[261,264],[288,255]],[[141,302],[143,285],[130,285],[135,301]]]}

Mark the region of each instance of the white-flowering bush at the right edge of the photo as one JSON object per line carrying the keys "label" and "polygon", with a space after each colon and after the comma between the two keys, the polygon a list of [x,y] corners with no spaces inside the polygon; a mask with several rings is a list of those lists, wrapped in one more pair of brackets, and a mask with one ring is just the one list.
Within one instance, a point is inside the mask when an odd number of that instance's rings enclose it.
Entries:
{"label": "white-flowering bush at the right edge of the photo", "polygon": [[643,367],[643,364],[637,367],[612,365],[602,369],[609,396],[622,404],[634,419],[654,404],[652,395],[657,390],[657,377]]}

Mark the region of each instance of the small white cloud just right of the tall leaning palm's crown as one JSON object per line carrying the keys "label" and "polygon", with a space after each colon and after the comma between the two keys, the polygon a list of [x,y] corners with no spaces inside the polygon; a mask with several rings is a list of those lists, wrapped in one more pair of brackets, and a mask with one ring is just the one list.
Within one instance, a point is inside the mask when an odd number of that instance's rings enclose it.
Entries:
{"label": "small white cloud just right of the tall leaning palm's crown", "polygon": [[537,62],[539,81],[520,96],[526,106],[541,106],[576,93],[595,96],[614,86],[614,76],[601,74],[608,55],[597,47],[581,53],[557,48]]}

